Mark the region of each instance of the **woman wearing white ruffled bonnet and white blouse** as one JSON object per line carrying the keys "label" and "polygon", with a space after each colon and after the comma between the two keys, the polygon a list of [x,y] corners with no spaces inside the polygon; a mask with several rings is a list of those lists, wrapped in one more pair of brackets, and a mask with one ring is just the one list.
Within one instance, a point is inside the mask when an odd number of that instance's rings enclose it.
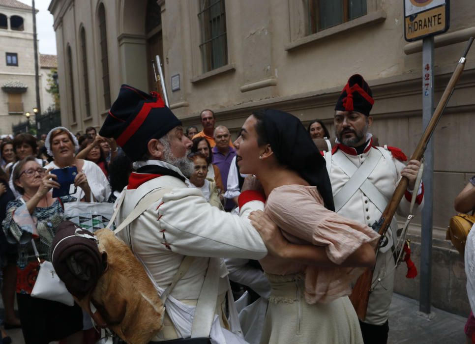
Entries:
{"label": "woman wearing white ruffled bonnet and white blouse", "polygon": [[[92,161],[75,157],[79,146],[76,137],[69,130],[64,127],[52,129],[46,137],[45,146],[48,154],[54,158],[45,168],[63,169],[76,166],[78,172],[84,173],[90,188],[84,190],[81,185],[76,185],[77,190],[72,196],[88,201],[89,195],[92,194],[93,199],[98,202],[106,202],[109,199],[111,188],[106,176]],[[91,201],[93,200],[91,199]]]}

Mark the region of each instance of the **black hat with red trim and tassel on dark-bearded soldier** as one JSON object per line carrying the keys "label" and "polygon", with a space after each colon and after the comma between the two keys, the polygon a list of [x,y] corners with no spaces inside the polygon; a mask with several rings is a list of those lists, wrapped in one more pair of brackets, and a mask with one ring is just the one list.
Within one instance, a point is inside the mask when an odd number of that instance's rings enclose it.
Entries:
{"label": "black hat with red trim and tassel on dark-bearded soldier", "polygon": [[371,88],[359,74],[352,75],[336,102],[335,111],[357,111],[369,116],[374,99]]}

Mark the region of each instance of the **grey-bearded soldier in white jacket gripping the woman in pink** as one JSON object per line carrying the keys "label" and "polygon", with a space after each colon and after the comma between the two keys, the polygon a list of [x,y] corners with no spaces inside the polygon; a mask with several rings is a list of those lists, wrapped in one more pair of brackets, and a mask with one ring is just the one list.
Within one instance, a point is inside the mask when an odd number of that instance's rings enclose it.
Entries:
{"label": "grey-bearded soldier in white jacket gripping the woman in pink", "polygon": [[[251,211],[264,209],[262,194],[250,190],[252,183],[248,182],[239,199],[240,214],[233,215],[212,207],[200,190],[188,188],[185,180],[194,169],[188,159],[192,143],[156,93],[122,85],[100,135],[115,138],[134,162],[135,171],[116,201],[116,225],[150,192],[161,191],[118,234],[142,261],[159,293],[177,281],[168,289],[163,329],[150,343],[190,336],[203,337],[196,343],[209,343],[209,336],[216,343],[241,343],[239,323],[230,320],[230,326],[222,312],[226,294],[232,294],[221,258],[261,259],[267,255],[263,240],[247,218]],[[231,300],[229,307],[233,314]]]}

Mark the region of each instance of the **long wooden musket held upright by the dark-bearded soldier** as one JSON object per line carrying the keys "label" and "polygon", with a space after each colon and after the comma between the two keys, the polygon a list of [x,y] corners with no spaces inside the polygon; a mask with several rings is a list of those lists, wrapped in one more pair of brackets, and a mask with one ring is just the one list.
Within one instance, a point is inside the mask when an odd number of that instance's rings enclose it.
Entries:
{"label": "long wooden musket held upright by the dark-bearded soldier", "polygon": [[[432,134],[434,133],[437,123],[439,122],[439,119],[442,116],[445,107],[447,106],[450,96],[453,93],[455,85],[457,85],[458,79],[460,78],[460,75],[464,70],[465,57],[467,56],[467,53],[469,52],[473,41],[474,38],[470,37],[467,48],[465,49],[463,56],[460,58],[459,63],[455,67],[452,77],[450,78],[447,86],[445,87],[445,91],[442,94],[441,100],[439,101],[439,104],[437,105],[437,108],[435,109],[434,114],[432,115],[432,118],[424,131],[424,134],[420,138],[416,150],[411,156],[411,160],[420,161],[420,159],[422,158],[422,155],[424,154],[424,151],[427,147],[427,143],[429,142]],[[380,243],[385,237],[387,229],[389,229],[391,220],[394,214],[396,213],[397,206],[401,202],[404,193],[406,192],[407,185],[408,179],[406,177],[402,177],[396,187],[396,190],[394,190],[394,194],[392,195],[391,200],[387,204],[385,211],[381,215],[380,219],[376,221],[372,226],[373,229],[377,230],[378,233],[381,235]],[[379,247],[380,245],[376,247],[376,252],[378,252]],[[356,281],[355,287],[353,287],[353,292],[350,295],[350,300],[353,304],[353,307],[355,307],[356,314],[358,315],[358,318],[362,321],[364,321],[366,317],[369,293],[373,284],[373,273],[374,267],[366,269],[365,272]]]}

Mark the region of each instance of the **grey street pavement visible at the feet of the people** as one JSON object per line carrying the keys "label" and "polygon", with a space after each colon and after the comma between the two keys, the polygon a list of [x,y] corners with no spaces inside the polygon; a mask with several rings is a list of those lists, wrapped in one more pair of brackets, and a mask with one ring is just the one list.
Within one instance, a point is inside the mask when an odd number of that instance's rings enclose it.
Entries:
{"label": "grey street pavement visible at the feet of the people", "polygon": [[[464,344],[466,318],[432,308],[433,318],[418,315],[419,303],[394,294],[389,310],[388,344]],[[3,310],[0,310],[3,313]],[[6,331],[13,344],[24,344],[21,329]],[[333,344],[333,343],[328,343]]]}

